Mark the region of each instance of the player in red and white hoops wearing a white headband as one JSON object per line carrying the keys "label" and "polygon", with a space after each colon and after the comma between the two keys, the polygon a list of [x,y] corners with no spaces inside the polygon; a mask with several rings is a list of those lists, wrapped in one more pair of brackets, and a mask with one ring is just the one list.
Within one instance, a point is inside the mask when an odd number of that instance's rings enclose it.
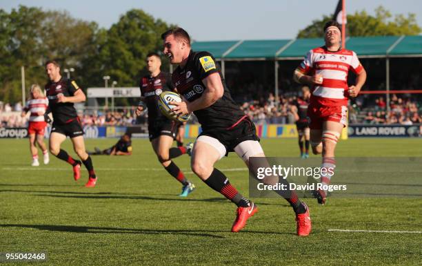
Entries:
{"label": "player in red and white hoops wearing a white headband", "polygon": [[[356,97],[366,80],[366,72],[356,53],[341,48],[339,23],[325,23],[325,46],[308,52],[305,60],[294,70],[294,79],[312,88],[308,117],[310,144],[314,154],[322,153],[322,166],[334,169],[334,149],[348,120],[348,98]],[[348,86],[348,73],[356,74],[356,84]],[[331,175],[321,177],[330,184]],[[314,191],[320,204],[325,204],[328,191]]]}

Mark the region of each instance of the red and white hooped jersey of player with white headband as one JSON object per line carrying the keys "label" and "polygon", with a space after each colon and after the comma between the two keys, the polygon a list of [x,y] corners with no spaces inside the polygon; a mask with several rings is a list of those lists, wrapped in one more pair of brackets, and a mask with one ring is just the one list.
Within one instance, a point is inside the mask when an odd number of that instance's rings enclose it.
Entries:
{"label": "red and white hooped jersey of player with white headband", "polygon": [[330,52],[324,47],[310,50],[298,68],[305,75],[322,75],[323,83],[312,88],[312,103],[323,106],[348,104],[348,73],[359,74],[363,66],[356,53],[341,49]]}

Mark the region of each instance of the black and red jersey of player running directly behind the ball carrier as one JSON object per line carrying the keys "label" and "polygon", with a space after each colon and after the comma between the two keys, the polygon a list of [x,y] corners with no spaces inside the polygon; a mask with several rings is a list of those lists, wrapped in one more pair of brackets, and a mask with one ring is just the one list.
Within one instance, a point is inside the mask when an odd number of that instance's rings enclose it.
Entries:
{"label": "black and red jersey of player running directly behind the ball carrier", "polygon": [[174,91],[172,79],[169,73],[160,72],[157,77],[146,75],[141,78],[139,84],[141,96],[145,97],[145,103],[148,107],[148,123],[151,124],[157,120],[169,120],[159,109],[159,95],[163,91]]}

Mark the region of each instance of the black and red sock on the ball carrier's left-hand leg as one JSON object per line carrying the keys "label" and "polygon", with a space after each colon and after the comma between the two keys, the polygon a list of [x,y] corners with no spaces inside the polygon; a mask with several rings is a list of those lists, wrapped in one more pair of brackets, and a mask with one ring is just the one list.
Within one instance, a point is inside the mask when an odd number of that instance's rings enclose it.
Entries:
{"label": "black and red sock on the ball carrier's left-hand leg", "polygon": [[208,184],[208,187],[223,194],[225,198],[231,200],[235,205],[237,205],[237,207],[250,206],[250,200],[244,198],[241,193],[239,193],[237,189],[230,184],[228,178],[226,178],[225,175],[218,169],[214,168],[210,177],[204,182],[205,184]]}

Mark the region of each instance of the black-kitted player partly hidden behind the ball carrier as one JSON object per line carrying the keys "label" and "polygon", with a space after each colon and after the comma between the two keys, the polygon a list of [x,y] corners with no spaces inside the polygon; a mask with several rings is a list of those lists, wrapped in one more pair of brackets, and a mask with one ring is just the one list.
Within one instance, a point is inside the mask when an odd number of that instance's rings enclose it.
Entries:
{"label": "black-kitted player partly hidden behind the ball carrier", "polygon": [[143,102],[148,108],[148,133],[152,149],[157,154],[159,162],[164,169],[182,184],[182,191],[179,196],[185,197],[194,191],[194,184],[190,182],[183,172],[172,161],[185,153],[190,153],[190,146],[179,146],[172,148],[177,122],[165,117],[159,110],[159,95],[163,91],[173,91],[174,86],[170,74],[161,71],[161,59],[157,53],[150,53],[146,59],[149,75],[141,78],[141,102],[136,114],[141,115]]}

